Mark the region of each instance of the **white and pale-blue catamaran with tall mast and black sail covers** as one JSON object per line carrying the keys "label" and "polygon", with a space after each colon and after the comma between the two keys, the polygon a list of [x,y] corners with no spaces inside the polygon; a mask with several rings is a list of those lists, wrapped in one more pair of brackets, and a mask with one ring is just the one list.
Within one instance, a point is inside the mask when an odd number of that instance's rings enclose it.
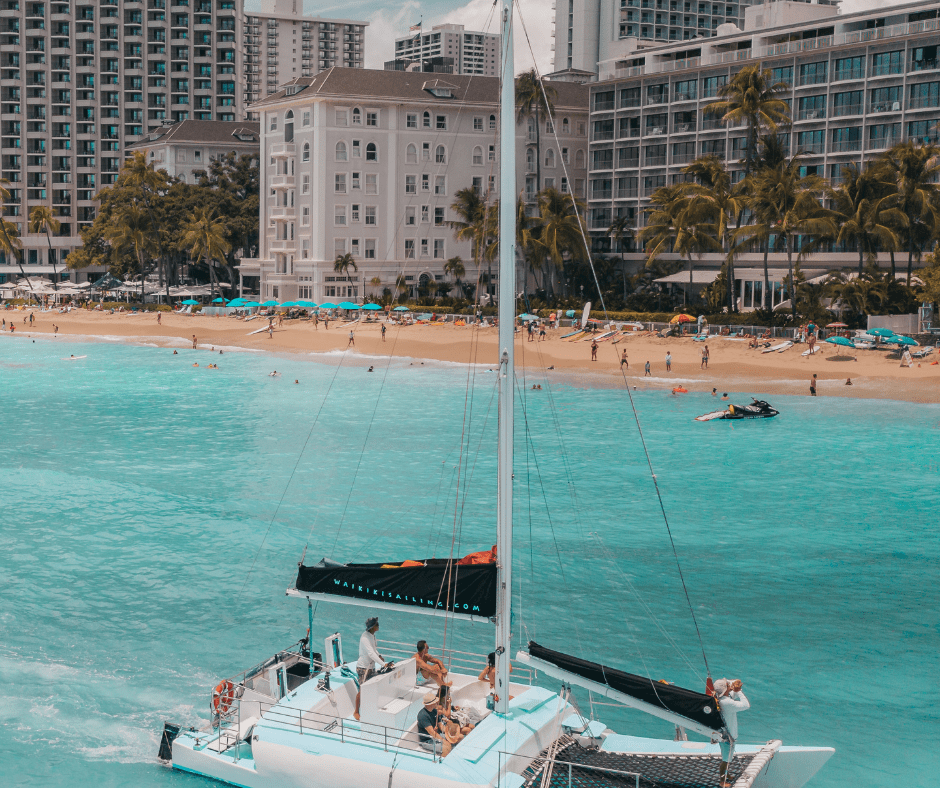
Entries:
{"label": "white and pale-blue catamaran with tall mast and black sail covers", "polygon": [[[501,0],[500,62],[513,63],[512,3]],[[515,159],[514,81],[500,92],[500,161]],[[499,425],[497,544],[491,557],[376,564],[303,559],[288,594],[306,599],[308,636],[219,682],[210,723],[166,723],[160,758],[174,769],[243,788],[535,788],[536,786],[715,786],[719,743],[730,738],[713,695],[653,681],[529,642],[512,660],[514,167],[500,167]],[[495,677],[480,680],[485,657],[445,650],[449,694],[475,727],[449,751],[421,746],[417,714],[433,681],[401,650],[388,669],[358,684],[342,638],[314,651],[314,602],[446,615],[495,626]],[[384,649],[383,649],[384,650]],[[388,653],[388,651],[386,652]],[[393,652],[394,653],[394,652]],[[395,655],[398,656],[398,655]],[[510,663],[512,678],[510,678]],[[546,677],[538,680],[541,674]],[[659,717],[675,739],[615,733],[581,715],[572,686]],[[355,714],[360,694],[360,713]],[[706,741],[689,741],[686,731]],[[828,747],[779,740],[739,745],[725,779],[735,788],[800,788],[832,755]]]}

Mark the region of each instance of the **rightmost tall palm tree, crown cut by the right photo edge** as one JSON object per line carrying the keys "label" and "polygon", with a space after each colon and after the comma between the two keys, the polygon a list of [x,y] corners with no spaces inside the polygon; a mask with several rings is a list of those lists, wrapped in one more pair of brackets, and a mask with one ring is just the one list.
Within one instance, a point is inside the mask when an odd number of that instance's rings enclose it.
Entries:
{"label": "rightmost tall palm tree, crown cut by the right photo edge", "polygon": [[910,286],[914,257],[919,260],[926,243],[935,237],[940,187],[933,181],[940,175],[940,148],[905,140],[886,151],[877,166],[891,188],[890,204],[906,220],[904,240]]}

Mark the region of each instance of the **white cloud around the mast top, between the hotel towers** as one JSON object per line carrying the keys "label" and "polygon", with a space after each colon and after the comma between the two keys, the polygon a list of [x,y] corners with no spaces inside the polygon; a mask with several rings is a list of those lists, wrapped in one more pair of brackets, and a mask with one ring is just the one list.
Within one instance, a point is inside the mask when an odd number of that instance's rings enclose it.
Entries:
{"label": "white cloud around the mast top, between the hotel towers", "polygon": [[[485,33],[499,33],[500,28],[499,5],[494,6],[492,0],[469,0],[465,5],[449,11],[443,10],[435,2],[408,0],[402,6],[379,9],[369,17],[369,27],[366,28],[366,68],[382,68],[386,60],[391,60],[395,53],[395,39],[405,35],[408,28],[422,17],[425,30],[443,23],[463,25],[467,30]],[[533,62],[542,73],[552,70],[553,18],[551,0],[518,1],[514,42],[516,73],[532,68]]]}

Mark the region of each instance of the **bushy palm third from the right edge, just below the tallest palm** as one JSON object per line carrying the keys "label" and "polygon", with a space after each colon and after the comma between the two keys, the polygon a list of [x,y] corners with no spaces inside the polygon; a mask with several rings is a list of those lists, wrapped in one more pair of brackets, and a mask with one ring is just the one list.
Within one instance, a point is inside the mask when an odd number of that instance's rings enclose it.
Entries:
{"label": "bushy palm third from the right edge, just below the tallest palm", "polygon": [[827,183],[818,175],[800,175],[799,157],[776,167],[754,174],[752,188],[766,195],[768,226],[766,230],[754,226],[740,227],[736,238],[759,237],[764,232],[781,239],[787,248],[787,268],[790,281],[790,305],[796,322],[796,280],[793,277],[793,252],[798,236],[809,238],[801,246],[802,259],[818,247],[820,241],[835,234],[832,214],[820,205],[819,197],[826,192]]}

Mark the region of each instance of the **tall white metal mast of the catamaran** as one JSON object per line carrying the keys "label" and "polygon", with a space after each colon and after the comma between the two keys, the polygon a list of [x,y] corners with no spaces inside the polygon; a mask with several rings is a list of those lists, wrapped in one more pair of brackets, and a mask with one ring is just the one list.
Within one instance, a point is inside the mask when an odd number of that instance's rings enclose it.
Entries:
{"label": "tall white metal mast of the catamaran", "polygon": [[509,711],[512,605],[513,330],[516,309],[516,85],[512,0],[501,0],[499,94],[499,495],[497,498],[496,712]]}

